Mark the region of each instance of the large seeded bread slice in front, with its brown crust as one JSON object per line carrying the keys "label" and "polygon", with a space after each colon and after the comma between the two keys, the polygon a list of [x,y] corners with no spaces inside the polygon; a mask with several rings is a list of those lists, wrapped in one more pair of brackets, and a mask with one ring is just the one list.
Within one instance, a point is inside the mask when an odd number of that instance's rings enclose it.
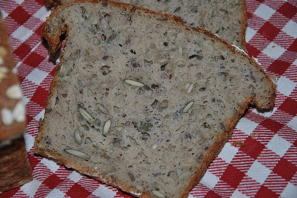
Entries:
{"label": "large seeded bread slice in front, with its brown crust", "polygon": [[253,58],[170,14],[73,1],[42,33],[67,37],[34,151],[138,197],[187,197],[248,104],[274,104]]}

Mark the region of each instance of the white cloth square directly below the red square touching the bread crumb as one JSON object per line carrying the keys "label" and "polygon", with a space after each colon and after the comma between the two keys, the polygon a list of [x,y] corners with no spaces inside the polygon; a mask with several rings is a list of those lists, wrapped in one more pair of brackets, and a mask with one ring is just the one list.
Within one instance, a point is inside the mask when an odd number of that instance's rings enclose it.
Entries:
{"label": "white cloth square directly below the red square touching the bread crumb", "polygon": [[260,185],[262,185],[271,173],[271,171],[272,170],[262,165],[260,162],[254,161],[254,163],[248,170],[247,175],[250,178],[256,180],[256,182],[260,183]]}

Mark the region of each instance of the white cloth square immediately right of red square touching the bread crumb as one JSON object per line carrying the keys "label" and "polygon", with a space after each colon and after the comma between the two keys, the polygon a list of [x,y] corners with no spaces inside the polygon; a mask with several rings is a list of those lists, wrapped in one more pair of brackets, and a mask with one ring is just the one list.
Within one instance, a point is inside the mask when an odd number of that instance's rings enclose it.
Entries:
{"label": "white cloth square immediately right of red square touching the bread crumb", "polygon": [[266,147],[283,157],[291,146],[292,144],[290,142],[275,134]]}

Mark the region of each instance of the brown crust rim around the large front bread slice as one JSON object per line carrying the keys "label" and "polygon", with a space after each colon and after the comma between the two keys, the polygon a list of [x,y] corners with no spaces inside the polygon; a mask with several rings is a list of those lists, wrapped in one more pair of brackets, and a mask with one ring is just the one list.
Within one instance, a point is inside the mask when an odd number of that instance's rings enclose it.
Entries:
{"label": "brown crust rim around the large front bread slice", "polygon": [[[269,84],[271,86],[270,93],[269,93],[271,95],[271,97],[270,97],[270,102],[266,106],[264,106],[264,107],[259,107],[259,109],[271,109],[271,108],[273,108],[274,99],[275,99],[275,91],[276,91],[275,85],[273,84],[272,79],[265,73],[264,69],[262,67],[260,67],[259,63],[256,62],[256,60],[254,58],[250,58],[248,56],[248,54],[243,53],[242,51],[240,51],[236,47],[232,46],[227,40],[223,39],[222,37],[217,37],[216,35],[214,35],[210,31],[206,30],[205,28],[202,28],[202,27],[199,27],[199,26],[196,27],[196,28],[186,26],[183,23],[183,20],[182,20],[181,17],[172,16],[172,15],[170,15],[168,13],[160,13],[160,12],[157,12],[157,11],[152,11],[152,10],[149,10],[149,9],[146,9],[146,8],[143,8],[143,7],[139,7],[139,6],[135,6],[135,5],[123,3],[123,2],[115,2],[113,0],[74,0],[74,1],[68,2],[66,4],[63,4],[62,6],[58,6],[56,10],[53,10],[51,12],[51,14],[49,15],[49,17],[47,18],[47,21],[49,19],[55,17],[56,13],[58,13],[59,11],[62,11],[64,9],[64,7],[71,6],[71,5],[74,5],[76,3],[84,3],[84,2],[90,2],[90,3],[107,2],[107,3],[110,3],[112,6],[122,7],[122,8],[125,7],[125,8],[130,9],[130,10],[132,8],[136,8],[136,10],[141,10],[141,11],[144,11],[146,13],[149,13],[149,14],[154,15],[154,17],[156,17],[156,16],[158,16],[158,17],[166,17],[169,20],[171,20],[172,23],[175,26],[177,26],[177,27],[186,29],[187,31],[196,31],[196,32],[203,33],[203,34],[205,34],[205,35],[213,38],[213,40],[220,41],[220,42],[224,43],[226,45],[226,47],[229,48],[230,51],[233,51],[236,54],[241,54],[244,57],[248,58],[249,62],[252,65],[254,65],[255,67],[257,67],[260,70],[260,72],[262,72],[262,73],[265,74],[265,78],[266,78],[266,80],[269,82]],[[51,38],[51,35],[49,35],[47,33],[47,31],[46,31],[47,28],[48,28],[47,21],[45,22],[45,25],[42,28],[42,34],[46,38],[46,40],[49,42],[49,46],[50,46],[49,52],[51,54],[54,54],[54,53],[56,53],[61,48],[62,43],[60,41],[53,40]],[[244,25],[244,29],[245,29],[245,25]],[[59,31],[60,31],[59,34],[61,34],[61,32],[62,33],[63,32],[67,32],[67,30],[61,30],[61,29]],[[63,53],[61,54],[60,57],[62,57],[62,55],[63,55]],[[47,98],[47,101],[46,101],[46,106],[45,106],[45,114],[47,114],[47,112],[49,110],[48,109],[49,99],[55,93],[55,86],[56,86],[56,83],[57,83],[58,71],[59,71],[61,62],[62,62],[62,60],[60,61],[60,63],[58,64],[58,66],[57,66],[57,68],[55,70],[54,79],[53,79],[53,81],[52,81],[52,83],[50,85],[50,91],[49,91],[48,98]],[[221,151],[221,149],[224,146],[224,144],[229,140],[230,136],[232,135],[233,129],[236,126],[236,123],[238,122],[240,116],[244,113],[244,111],[248,107],[248,104],[257,105],[257,103],[258,103],[258,101],[255,101],[255,95],[251,95],[251,96],[249,96],[249,97],[247,97],[245,99],[245,101],[241,105],[241,108],[239,108],[239,110],[237,110],[237,114],[235,116],[233,116],[229,120],[229,122],[227,122],[226,132],[223,133],[223,134],[221,134],[217,138],[216,142],[209,149],[209,152],[207,153],[207,155],[205,155],[205,157],[204,157],[204,159],[203,159],[200,167],[197,168],[196,175],[194,175],[191,178],[188,187],[186,187],[186,189],[184,190],[184,192],[182,192],[181,195],[179,196],[180,198],[186,198],[188,196],[188,193],[192,190],[192,188],[195,187],[195,185],[203,177],[203,175],[204,175],[205,171],[207,170],[207,167],[209,166],[210,162],[215,157],[217,157],[217,154]],[[43,128],[42,124],[43,124],[43,121],[40,120],[40,122],[39,122],[39,126],[40,126],[39,132],[38,132],[38,135],[35,138],[35,142],[34,142],[34,145],[35,145],[34,146],[34,152],[37,153],[37,154],[40,154],[40,155],[43,155],[43,156],[52,158],[55,161],[57,161],[58,163],[64,164],[67,167],[70,167],[70,168],[74,168],[75,167],[76,170],[78,170],[79,172],[81,172],[83,174],[92,175],[91,170],[88,170],[88,169],[86,169],[84,167],[77,167],[77,166],[75,166],[75,162],[71,162],[69,159],[65,159],[60,154],[57,154],[57,153],[54,153],[54,152],[51,152],[51,151],[45,151],[44,149],[41,148],[42,147],[42,144],[41,144],[41,134],[44,131],[44,128]],[[94,177],[94,176],[91,176],[91,177],[94,178],[94,179],[100,180],[103,183],[107,183],[107,184],[109,184],[111,186],[120,188],[121,190],[123,190],[123,191],[125,191],[127,193],[130,193],[133,196],[136,196],[136,195],[132,194],[131,192],[141,193],[140,191],[138,191],[138,190],[136,190],[134,188],[131,188],[129,186],[126,186],[126,184],[124,184],[124,183],[122,183],[120,181],[114,182],[111,179],[111,176],[102,176],[101,175],[99,177]],[[151,196],[148,192],[144,192],[144,193],[142,193],[141,196],[137,196],[137,197],[151,198],[153,196]]]}

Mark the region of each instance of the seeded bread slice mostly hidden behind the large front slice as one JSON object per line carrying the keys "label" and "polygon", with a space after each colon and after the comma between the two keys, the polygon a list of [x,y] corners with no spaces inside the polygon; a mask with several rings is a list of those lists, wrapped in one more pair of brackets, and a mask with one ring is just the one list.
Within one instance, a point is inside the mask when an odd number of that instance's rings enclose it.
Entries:
{"label": "seeded bread slice mostly hidden behind the large front slice", "polygon": [[[57,6],[71,0],[45,0],[47,6]],[[205,27],[246,51],[245,30],[247,11],[245,0],[121,0],[159,12],[182,17],[185,24]]]}

